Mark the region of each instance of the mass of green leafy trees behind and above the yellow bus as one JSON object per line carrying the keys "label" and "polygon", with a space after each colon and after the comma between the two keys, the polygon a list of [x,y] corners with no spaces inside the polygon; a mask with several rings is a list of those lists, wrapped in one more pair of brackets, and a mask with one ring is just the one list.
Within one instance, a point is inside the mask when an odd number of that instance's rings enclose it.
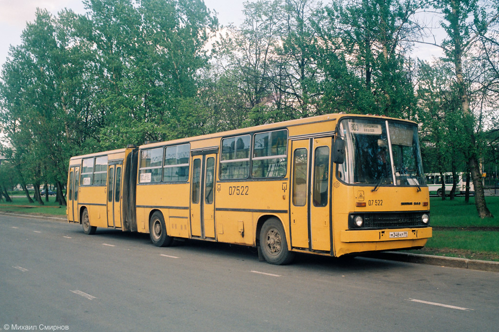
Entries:
{"label": "mass of green leafy trees behind and above the yellow bus", "polygon": [[[62,187],[71,155],[340,111],[420,122],[427,171],[476,179],[494,148],[497,0],[257,0],[239,27],[202,0],[83,2],[39,9],[3,65],[1,154],[21,184]],[[432,62],[411,58],[421,10],[447,34]]]}

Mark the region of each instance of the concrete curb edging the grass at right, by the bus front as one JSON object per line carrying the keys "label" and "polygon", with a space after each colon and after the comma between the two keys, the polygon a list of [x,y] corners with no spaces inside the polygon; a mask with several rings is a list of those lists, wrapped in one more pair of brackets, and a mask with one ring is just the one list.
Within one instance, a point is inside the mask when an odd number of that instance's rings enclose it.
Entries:
{"label": "concrete curb edging the grass at right, by the bus front", "polygon": [[369,258],[394,260],[399,262],[439,265],[445,267],[456,267],[459,269],[470,269],[488,272],[499,272],[499,262],[487,260],[474,260],[468,258],[432,256],[413,254],[405,252],[387,251],[376,254],[363,255]]}

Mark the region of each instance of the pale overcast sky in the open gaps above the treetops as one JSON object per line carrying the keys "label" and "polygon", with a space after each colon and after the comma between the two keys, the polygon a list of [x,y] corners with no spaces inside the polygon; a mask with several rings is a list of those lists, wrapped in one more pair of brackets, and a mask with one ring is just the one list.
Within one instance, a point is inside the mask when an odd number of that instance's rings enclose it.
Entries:
{"label": "pale overcast sky in the open gaps above the treetops", "polygon": [[[219,22],[223,25],[243,22],[244,0],[205,0],[208,8],[215,10]],[[324,3],[329,2],[323,0]],[[0,67],[8,55],[9,45],[18,45],[26,22],[34,20],[36,7],[45,8],[56,14],[63,8],[71,8],[77,13],[84,13],[82,0],[0,0]],[[422,47],[414,51],[413,56],[430,59],[438,50]]]}

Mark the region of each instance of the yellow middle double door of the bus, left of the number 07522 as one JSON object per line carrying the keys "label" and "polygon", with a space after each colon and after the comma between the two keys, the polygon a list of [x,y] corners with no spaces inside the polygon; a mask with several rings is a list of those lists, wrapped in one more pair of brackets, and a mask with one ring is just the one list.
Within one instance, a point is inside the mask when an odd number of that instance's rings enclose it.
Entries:
{"label": "yellow middle double door of the bus, left of the number 07522", "polygon": [[216,154],[193,157],[191,173],[191,233],[215,238]]}

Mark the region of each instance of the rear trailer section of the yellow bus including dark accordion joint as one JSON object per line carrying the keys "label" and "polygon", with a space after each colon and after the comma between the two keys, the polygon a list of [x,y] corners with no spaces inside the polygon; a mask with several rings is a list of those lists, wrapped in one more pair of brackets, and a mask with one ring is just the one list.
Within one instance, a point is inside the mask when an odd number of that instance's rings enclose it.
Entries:
{"label": "rear trailer section of the yellow bus including dark accordion joint", "polygon": [[87,234],[97,227],[137,230],[134,148],[72,157],[66,215]]}

